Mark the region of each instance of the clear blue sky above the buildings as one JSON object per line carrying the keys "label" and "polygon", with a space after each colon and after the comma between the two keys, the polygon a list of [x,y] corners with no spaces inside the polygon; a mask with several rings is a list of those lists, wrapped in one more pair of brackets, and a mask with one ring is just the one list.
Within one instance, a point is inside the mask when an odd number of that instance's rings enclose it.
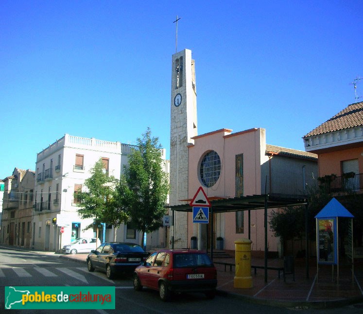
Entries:
{"label": "clear blue sky above the buildings", "polygon": [[[198,134],[301,137],[355,102],[363,1],[0,1],[0,179],[65,133],[169,156],[171,57],[192,50]],[[363,96],[363,80],[357,84]],[[362,99],[361,99],[362,100]]]}

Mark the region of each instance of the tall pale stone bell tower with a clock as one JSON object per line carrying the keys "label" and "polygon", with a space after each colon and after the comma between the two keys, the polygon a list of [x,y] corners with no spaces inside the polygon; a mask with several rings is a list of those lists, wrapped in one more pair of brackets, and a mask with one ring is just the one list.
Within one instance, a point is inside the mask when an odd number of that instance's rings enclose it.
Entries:
{"label": "tall pale stone bell tower with a clock", "polygon": [[[197,132],[197,92],[195,63],[191,50],[184,49],[172,56],[172,93],[170,128],[170,204],[185,204],[188,198],[188,144]],[[174,213],[174,248],[188,247],[188,214]],[[174,228],[174,229],[173,229]]]}

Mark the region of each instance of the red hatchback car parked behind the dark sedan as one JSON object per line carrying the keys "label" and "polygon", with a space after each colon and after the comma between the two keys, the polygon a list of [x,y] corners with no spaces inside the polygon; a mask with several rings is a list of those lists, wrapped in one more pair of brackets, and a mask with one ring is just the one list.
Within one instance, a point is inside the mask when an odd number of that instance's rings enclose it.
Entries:
{"label": "red hatchback car parked behind the dark sedan", "polygon": [[134,272],[134,289],[142,287],[159,291],[166,301],[173,292],[202,292],[214,298],[217,270],[204,251],[157,250]]}

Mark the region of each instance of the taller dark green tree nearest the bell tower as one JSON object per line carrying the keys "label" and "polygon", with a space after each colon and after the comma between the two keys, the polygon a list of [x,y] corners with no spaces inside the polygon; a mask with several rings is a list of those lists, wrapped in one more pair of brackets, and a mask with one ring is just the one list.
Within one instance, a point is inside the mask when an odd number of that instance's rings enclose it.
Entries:
{"label": "taller dark green tree nearest the bell tower", "polygon": [[138,149],[133,150],[124,166],[125,192],[131,223],[144,234],[162,226],[164,207],[169,193],[167,173],[163,171],[159,139],[151,137],[150,128],[138,138]]}

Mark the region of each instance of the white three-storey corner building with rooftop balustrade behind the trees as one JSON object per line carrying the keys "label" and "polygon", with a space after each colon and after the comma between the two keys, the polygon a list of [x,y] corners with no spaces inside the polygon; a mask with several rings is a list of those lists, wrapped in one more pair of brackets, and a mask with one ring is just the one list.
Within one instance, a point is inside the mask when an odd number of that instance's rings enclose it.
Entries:
{"label": "white three-storey corner building with rooftop balustrade behind the trees", "polygon": [[[138,146],[66,134],[37,154],[32,247],[36,250],[59,251],[74,238],[96,236],[95,230],[84,230],[92,220],[82,220],[78,216],[79,206],[74,194],[82,189],[90,176],[90,169],[100,158],[109,175],[119,179],[132,149],[138,149]],[[169,175],[169,161],[165,157],[166,151],[163,149],[164,169]],[[53,223],[57,215],[65,218],[63,224],[67,226],[63,233],[60,233],[60,226]],[[106,226],[104,234],[99,234],[101,241],[113,241],[113,236],[112,226]],[[117,230],[116,241],[139,244],[140,236],[133,226],[121,225]],[[164,228],[148,235],[147,249],[164,247],[166,238]]]}

